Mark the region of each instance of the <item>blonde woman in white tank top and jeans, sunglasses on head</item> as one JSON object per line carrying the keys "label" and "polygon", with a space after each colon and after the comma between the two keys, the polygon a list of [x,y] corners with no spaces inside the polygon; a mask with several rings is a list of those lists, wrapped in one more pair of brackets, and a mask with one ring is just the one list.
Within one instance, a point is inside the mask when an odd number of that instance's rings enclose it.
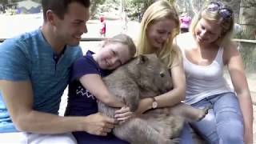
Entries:
{"label": "blonde woman in white tank top and jeans, sunglasses on head", "polygon": [[[211,107],[202,121],[190,123],[207,143],[253,143],[250,90],[238,47],[231,42],[233,27],[233,11],[220,2],[210,2],[193,19],[191,33],[178,42],[186,74],[185,102]],[[234,90],[223,78],[225,66]],[[191,143],[189,133],[182,134],[181,143]]]}

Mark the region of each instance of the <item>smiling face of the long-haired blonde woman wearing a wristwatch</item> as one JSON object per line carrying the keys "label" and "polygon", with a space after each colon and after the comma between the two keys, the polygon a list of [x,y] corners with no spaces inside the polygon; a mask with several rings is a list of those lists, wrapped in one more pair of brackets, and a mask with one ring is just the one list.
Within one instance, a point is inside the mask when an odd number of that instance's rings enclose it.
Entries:
{"label": "smiling face of the long-haired blonde woman wearing a wristwatch", "polygon": [[176,26],[174,20],[167,18],[150,24],[146,29],[146,36],[150,42],[150,46],[156,50],[162,49],[162,46]]}

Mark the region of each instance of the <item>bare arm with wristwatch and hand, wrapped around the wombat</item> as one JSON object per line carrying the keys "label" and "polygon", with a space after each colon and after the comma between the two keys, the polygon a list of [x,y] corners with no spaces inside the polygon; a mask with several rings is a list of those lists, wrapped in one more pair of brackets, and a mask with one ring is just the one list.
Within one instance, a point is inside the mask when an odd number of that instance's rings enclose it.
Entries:
{"label": "bare arm with wristwatch and hand, wrapped around the wombat", "polygon": [[[178,61],[178,59],[176,59],[176,61]],[[174,106],[185,98],[186,78],[182,62],[174,63],[180,63],[178,66],[171,68],[171,78],[174,84],[174,89],[166,92],[165,94],[160,94],[154,97],[158,102],[158,107]],[[136,113],[142,114],[146,110],[150,110],[152,108],[152,102],[152,98],[142,99],[139,103]]]}

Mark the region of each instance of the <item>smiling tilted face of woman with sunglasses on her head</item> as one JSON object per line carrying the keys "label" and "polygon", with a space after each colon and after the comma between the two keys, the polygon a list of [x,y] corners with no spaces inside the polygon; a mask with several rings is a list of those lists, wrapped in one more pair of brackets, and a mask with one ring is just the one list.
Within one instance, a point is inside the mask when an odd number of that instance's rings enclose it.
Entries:
{"label": "smiling tilted face of woman with sunglasses on her head", "polygon": [[210,22],[204,18],[198,21],[197,26],[195,26],[194,34],[196,41],[199,44],[210,44],[215,42],[221,35],[222,26],[217,22]]}

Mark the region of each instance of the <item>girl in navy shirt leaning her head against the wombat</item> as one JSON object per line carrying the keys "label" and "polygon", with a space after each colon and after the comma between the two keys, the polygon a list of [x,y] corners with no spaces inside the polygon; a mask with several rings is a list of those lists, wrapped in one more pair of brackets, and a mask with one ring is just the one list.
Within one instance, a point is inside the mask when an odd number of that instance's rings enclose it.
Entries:
{"label": "girl in navy shirt leaning her head against the wombat", "polygon": [[[98,112],[97,101],[102,101],[109,106],[122,107],[116,111],[115,118],[118,121],[125,121],[127,118],[130,118],[132,113],[129,107],[118,102],[110,94],[102,82],[102,77],[110,74],[112,70],[133,58],[135,51],[136,48],[133,40],[126,34],[118,34],[106,40],[98,53],[94,54],[88,50],[84,57],[74,62],[69,85],[66,115],[81,116],[95,114]],[[109,128],[105,134],[102,134],[107,136],[98,136],[84,131],[74,132],[73,134],[78,144],[127,143],[114,137],[113,134],[109,133],[110,131],[111,129]]]}

